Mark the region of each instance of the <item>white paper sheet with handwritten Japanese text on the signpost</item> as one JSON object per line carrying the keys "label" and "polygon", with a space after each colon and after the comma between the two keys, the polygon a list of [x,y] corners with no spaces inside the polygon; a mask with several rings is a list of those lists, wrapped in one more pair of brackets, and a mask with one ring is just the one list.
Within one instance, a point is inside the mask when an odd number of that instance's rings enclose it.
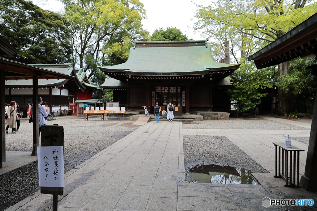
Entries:
{"label": "white paper sheet with handwritten Japanese text on the signpost", "polygon": [[65,187],[62,146],[38,146],[37,160],[40,187]]}

